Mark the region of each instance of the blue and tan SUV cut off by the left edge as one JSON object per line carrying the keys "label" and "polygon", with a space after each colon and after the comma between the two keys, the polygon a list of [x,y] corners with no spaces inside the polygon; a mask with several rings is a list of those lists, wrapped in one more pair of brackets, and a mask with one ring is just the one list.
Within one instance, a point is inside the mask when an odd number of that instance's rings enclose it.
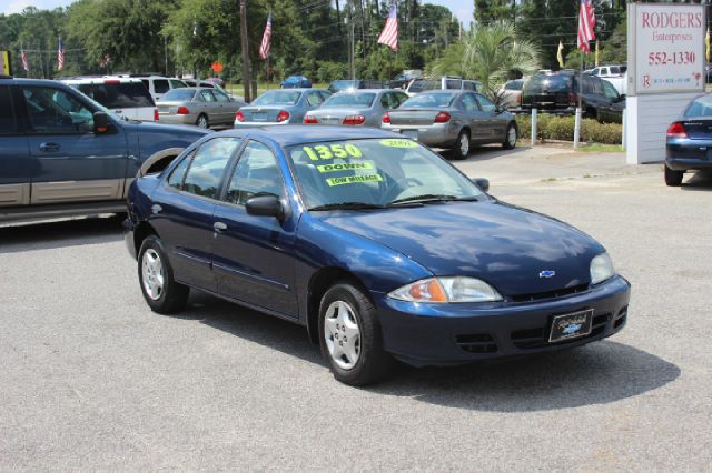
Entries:
{"label": "blue and tan SUV cut off by the left edge", "polygon": [[0,222],[125,211],[137,174],[206,133],[119,118],[58,81],[0,76]]}

